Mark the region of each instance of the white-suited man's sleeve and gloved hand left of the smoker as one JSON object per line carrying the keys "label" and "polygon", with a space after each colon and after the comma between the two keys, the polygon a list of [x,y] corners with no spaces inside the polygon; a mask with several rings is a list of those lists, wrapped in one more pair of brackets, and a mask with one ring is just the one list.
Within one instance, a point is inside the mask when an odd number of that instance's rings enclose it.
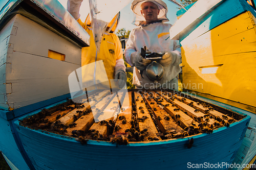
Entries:
{"label": "white-suited man's sleeve and gloved hand left of the smoker", "polygon": [[130,33],[129,39],[126,43],[126,50],[124,53],[124,57],[127,63],[131,66],[135,66],[139,70],[144,70],[145,67],[151,63],[151,60],[146,60],[141,56],[140,52],[136,51],[134,37],[134,30]]}

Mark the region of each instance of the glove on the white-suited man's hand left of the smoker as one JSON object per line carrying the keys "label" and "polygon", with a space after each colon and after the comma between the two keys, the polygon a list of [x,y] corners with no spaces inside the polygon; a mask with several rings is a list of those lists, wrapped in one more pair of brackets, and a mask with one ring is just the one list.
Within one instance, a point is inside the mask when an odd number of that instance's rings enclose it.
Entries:
{"label": "glove on the white-suited man's hand left of the smoker", "polygon": [[142,71],[148,64],[151,63],[151,60],[144,59],[140,52],[134,52],[131,54],[131,62],[136,68]]}

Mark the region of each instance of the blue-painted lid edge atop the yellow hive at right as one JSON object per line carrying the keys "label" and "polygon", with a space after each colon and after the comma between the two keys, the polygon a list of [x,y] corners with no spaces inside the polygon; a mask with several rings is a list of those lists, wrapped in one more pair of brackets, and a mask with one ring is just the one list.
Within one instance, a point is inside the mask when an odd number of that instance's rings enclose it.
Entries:
{"label": "blue-painted lid edge atop the yellow hive at right", "polygon": [[183,31],[181,30],[182,33],[179,34],[179,40],[182,41],[190,33],[197,30],[197,34],[195,34],[196,38],[245,11],[250,11],[254,16],[256,16],[255,10],[244,0],[223,0],[218,7],[201,18],[194,26],[190,26],[188,29],[184,29]]}

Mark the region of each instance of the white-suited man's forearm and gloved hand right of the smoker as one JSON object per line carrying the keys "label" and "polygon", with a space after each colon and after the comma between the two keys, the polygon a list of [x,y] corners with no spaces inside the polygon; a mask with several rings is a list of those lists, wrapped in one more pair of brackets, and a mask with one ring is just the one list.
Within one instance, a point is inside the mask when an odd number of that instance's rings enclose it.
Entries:
{"label": "white-suited man's forearm and gloved hand right of the smoker", "polygon": [[174,51],[164,51],[162,53],[164,55],[159,61],[162,66],[181,64],[181,50],[178,40],[174,40]]}

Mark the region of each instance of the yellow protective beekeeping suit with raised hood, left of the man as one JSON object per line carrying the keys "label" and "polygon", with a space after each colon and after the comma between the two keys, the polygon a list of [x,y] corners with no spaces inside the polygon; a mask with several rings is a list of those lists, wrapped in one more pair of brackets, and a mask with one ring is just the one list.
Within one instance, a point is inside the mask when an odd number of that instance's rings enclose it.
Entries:
{"label": "yellow protective beekeeping suit with raised hood, left of the man", "polygon": [[106,70],[106,75],[108,79],[114,79],[115,76],[115,65],[116,60],[123,58],[122,45],[117,35],[113,34],[117,27],[118,20],[117,14],[110,22],[107,31],[104,33],[101,45],[100,53],[96,54],[96,46],[93,39],[93,32],[90,27],[91,21],[89,15],[85,22],[82,22],[79,18],[78,23],[88,32],[90,35],[90,46],[82,48],[82,66],[93,63],[95,61],[103,60],[104,67]]}

